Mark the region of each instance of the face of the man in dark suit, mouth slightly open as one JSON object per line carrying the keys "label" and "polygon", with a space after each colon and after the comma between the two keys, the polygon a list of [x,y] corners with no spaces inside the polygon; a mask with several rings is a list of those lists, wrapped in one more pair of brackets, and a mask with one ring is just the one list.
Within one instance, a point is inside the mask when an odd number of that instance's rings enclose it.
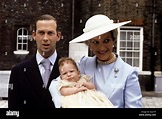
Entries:
{"label": "face of the man in dark suit, mouth slightly open", "polygon": [[37,43],[38,52],[45,58],[52,55],[56,49],[56,42],[60,40],[61,33],[57,32],[54,20],[39,20],[33,38]]}

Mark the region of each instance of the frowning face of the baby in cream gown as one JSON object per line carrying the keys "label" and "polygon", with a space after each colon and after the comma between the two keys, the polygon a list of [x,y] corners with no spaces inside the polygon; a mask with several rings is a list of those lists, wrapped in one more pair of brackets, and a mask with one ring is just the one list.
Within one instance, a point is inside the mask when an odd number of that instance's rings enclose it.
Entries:
{"label": "frowning face of the baby in cream gown", "polygon": [[77,82],[80,77],[80,72],[71,63],[64,63],[60,67],[60,77],[62,80],[67,80],[68,82]]}

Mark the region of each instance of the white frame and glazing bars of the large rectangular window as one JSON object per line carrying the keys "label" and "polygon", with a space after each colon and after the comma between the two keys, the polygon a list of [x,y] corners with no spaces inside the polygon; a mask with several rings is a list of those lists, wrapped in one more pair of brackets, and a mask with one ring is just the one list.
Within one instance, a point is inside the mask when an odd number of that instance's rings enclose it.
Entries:
{"label": "white frame and glazing bars of the large rectangular window", "polygon": [[[132,44],[134,44],[135,42],[134,39],[134,33],[135,32],[139,32],[139,50],[136,50],[135,48],[132,48],[132,50],[121,50],[121,46],[120,46],[120,43],[121,43],[121,32],[132,32],[133,33],[133,37],[132,37]],[[124,40],[123,40],[124,41]],[[129,39],[130,41],[130,39]],[[137,40],[136,40],[137,42]],[[126,39],[125,39],[125,43],[127,44],[127,35],[126,35]],[[138,66],[135,66],[137,67],[138,71],[142,71],[142,64],[143,64],[143,27],[133,27],[133,26],[122,26],[120,28],[118,28],[118,37],[117,37],[117,54],[119,54],[121,56],[121,58],[123,57],[121,52],[125,52],[126,54],[129,53],[129,52],[134,52],[134,53],[138,53],[139,52],[139,58],[137,58],[139,61],[139,64]],[[125,57],[127,59],[127,57]],[[135,57],[129,57],[130,59],[132,59],[132,65],[133,66],[133,61],[135,59]],[[136,59],[136,60],[137,60]],[[123,58],[124,60],[124,58]],[[124,60],[125,61],[125,60]],[[126,61],[127,62],[127,61]]]}

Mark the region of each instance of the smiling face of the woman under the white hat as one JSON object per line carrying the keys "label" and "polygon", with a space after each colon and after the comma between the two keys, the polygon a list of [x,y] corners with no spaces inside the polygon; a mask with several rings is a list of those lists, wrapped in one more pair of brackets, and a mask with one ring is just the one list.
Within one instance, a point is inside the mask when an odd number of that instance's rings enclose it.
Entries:
{"label": "smiling face of the woman under the white hat", "polygon": [[89,46],[93,54],[101,61],[110,60],[114,41],[110,32],[90,39]]}

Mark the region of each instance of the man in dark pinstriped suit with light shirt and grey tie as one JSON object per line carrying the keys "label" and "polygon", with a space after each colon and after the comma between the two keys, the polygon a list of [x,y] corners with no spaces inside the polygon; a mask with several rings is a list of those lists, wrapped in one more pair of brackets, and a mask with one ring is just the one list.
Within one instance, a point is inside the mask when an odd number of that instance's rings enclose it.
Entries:
{"label": "man in dark pinstriped suit with light shirt and grey tie", "polygon": [[[34,57],[17,64],[11,70],[8,90],[9,108],[54,108],[52,97],[48,90],[52,79],[59,74],[56,43],[61,38],[57,29],[56,19],[48,14],[40,16],[35,23],[33,39],[37,44]],[[47,85],[43,83],[45,69],[42,60],[50,61],[51,74]]]}

